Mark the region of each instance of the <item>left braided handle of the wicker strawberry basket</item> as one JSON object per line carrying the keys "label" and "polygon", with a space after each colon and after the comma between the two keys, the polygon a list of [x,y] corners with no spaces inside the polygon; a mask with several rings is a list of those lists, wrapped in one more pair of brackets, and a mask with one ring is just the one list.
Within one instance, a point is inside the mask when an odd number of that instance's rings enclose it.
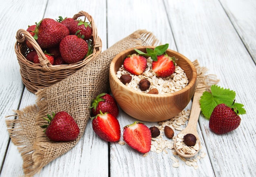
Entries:
{"label": "left braided handle of the wicker strawberry basket", "polygon": [[50,64],[49,60],[45,57],[45,54],[43,53],[42,49],[40,48],[36,40],[33,38],[33,36],[28,31],[24,29],[19,29],[16,33],[17,42],[23,43],[25,42],[25,39],[27,39],[36,50],[40,66],[42,66],[43,71],[51,71],[47,65]]}

